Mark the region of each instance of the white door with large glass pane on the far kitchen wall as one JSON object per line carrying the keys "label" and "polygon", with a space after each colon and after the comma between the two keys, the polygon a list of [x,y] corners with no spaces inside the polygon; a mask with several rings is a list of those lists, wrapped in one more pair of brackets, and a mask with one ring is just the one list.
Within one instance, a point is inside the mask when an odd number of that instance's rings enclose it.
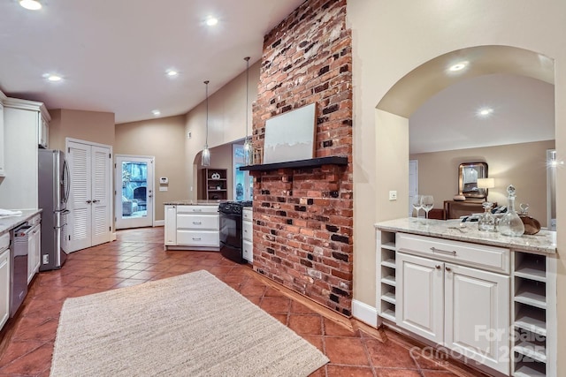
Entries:
{"label": "white door with large glass pane on the far kitchen wall", "polygon": [[153,226],[154,160],[116,155],[116,229]]}

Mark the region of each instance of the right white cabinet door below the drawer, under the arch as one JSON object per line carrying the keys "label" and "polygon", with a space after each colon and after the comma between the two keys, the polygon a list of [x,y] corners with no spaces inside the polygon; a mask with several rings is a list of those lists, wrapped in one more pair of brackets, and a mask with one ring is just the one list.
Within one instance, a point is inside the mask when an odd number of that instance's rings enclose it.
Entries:
{"label": "right white cabinet door below the drawer, under the arch", "polygon": [[449,349],[509,374],[509,276],[446,263]]}

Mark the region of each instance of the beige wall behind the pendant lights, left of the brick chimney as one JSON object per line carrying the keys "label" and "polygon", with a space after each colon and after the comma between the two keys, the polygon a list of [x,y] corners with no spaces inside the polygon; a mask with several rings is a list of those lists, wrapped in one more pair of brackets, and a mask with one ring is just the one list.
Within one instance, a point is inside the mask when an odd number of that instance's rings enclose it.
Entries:
{"label": "beige wall behind the pendant lights, left of the brick chimney", "polygon": [[[242,66],[245,66],[242,57]],[[259,81],[260,63],[249,67],[249,106],[248,106],[248,132],[251,132],[251,104],[257,98],[257,83]],[[204,84],[203,84],[204,91]],[[209,147],[218,147],[246,136],[246,72],[220,88],[216,93],[209,95]],[[195,157],[203,150],[205,143],[206,107],[205,102],[187,113],[185,121],[186,132],[191,132],[191,139],[185,143],[187,161],[195,161]],[[230,162],[232,163],[232,162]],[[218,167],[214,156],[210,156],[210,166]],[[196,200],[197,172],[195,164],[187,164],[187,177],[190,177],[189,186],[193,187],[192,200]]]}

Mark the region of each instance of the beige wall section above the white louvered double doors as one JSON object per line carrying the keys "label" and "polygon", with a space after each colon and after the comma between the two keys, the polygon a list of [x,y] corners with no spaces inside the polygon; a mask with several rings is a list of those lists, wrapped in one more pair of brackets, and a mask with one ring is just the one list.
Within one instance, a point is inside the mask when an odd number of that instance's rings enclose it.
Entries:
{"label": "beige wall section above the white louvered double doors", "polygon": [[65,149],[65,138],[114,145],[114,113],[50,109],[50,148]]}

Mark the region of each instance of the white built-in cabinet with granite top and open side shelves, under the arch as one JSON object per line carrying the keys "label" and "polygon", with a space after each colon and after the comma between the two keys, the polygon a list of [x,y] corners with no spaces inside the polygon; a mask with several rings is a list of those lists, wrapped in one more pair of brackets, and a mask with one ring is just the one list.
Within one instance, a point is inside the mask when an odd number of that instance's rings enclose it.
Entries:
{"label": "white built-in cabinet with granite top and open side shelves, under the arch", "polygon": [[494,375],[557,375],[553,231],[477,222],[375,224],[379,323]]}

